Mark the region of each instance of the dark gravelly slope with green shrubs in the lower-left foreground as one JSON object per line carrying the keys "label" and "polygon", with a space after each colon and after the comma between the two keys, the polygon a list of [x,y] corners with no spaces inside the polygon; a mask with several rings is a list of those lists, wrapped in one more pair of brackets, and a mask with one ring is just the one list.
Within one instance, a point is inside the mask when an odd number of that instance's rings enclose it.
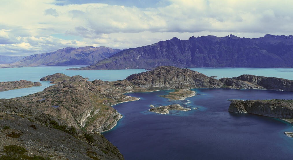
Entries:
{"label": "dark gravelly slope with green shrubs in the lower-left foreground", "polygon": [[0,99],[0,159],[123,159],[99,133],[86,133],[21,102]]}

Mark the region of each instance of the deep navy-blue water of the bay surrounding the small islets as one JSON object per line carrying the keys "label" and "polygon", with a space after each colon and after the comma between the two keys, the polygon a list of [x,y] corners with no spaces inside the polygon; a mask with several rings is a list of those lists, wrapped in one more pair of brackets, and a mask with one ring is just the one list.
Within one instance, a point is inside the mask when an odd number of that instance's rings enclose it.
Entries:
{"label": "deep navy-blue water of the bay surrounding the small islets", "polygon": [[[293,92],[194,90],[200,95],[183,101],[158,96],[172,90],[128,93],[141,99],[113,106],[123,118],[103,135],[125,159],[292,159],[293,138],[283,133],[292,131],[290,124],[265,116],[229,113],[227,100],[292,99]],[[151,104],[172,103],[192,110],[166,115],[147,112]]]}

